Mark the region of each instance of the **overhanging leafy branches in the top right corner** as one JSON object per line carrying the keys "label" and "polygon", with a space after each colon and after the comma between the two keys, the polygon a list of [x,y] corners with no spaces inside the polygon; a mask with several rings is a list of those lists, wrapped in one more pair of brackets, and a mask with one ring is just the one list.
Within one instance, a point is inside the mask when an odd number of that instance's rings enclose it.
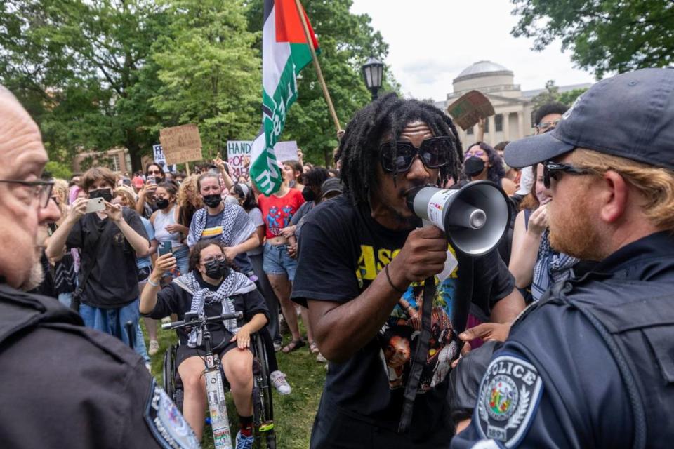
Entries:
{"label": "overhanging leafy branches in the top right corner", "polygon": [[543,50],[555,39],[579,67],[607,72],[665,67],[674,58],[671,0],[512,0],[513,36],[534,37]]}

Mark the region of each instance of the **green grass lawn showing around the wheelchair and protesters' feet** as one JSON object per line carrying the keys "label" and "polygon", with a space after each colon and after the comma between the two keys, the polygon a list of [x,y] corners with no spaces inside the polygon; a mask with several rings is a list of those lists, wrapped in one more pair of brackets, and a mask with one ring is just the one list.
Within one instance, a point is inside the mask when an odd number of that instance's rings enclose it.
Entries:
{"label": "green grass lawn showing around the wheelchair and protesters' feet", "polygon": [[[173,330],[160,329],[158,332],[160,349],[157,355],[152,357],[152,374],[157,378],[157,382],[161,382],[161,363],[164,360],[164,352],[169,344],[177,341],[177,337]],[[289,337],[284,337],[284,344],[287,342],[289,342]],[[316,361],[316,357],[310,354],[308,345],[290,354],[277,352],[277,358],[279,369],[286,373],[286,379],[293,389],[293,392],[287,396],[280,396],[274,390],[277,447],[280,449],[308,448],[311,427],[325,381],[325,364]],[[236,435],[238,431],[237,413],[231,396],[227,402],[232,435]],[[202,447],[213,448],[213,435],[209,426],[204,428]]]}

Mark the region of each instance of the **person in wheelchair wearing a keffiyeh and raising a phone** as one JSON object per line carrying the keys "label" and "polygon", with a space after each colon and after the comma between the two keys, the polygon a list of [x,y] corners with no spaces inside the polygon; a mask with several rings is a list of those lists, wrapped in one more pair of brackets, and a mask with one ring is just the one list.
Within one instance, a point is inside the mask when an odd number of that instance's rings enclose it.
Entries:
{"label": "person in wheelchair wearing a keffiyeh and raising a phone", "polygon": [[[244,313],[245,324],[226,320],[209,325],[213,347],[224,342],[218,350],[225,377],[230,383],[234,405],[239,413],[241,429],[237,434],[237,448],[249,448],[253,443],[253,353],[250,349],[251,333],[267,323],[265,299],[255,284],[244,274],[230,269],[219,243],[199,241],[190,251],[190,272],[174,279],[159,289],[161,276],[176,267],[171,254],[157,258],[147,286],[140,297],[140,313],[152,319],[177,314],[183,319],[185,312],[204,312],[214,316],[234,311]],[[204,431],[206,384],[202,375],[204,347],[199,347],[197,329],[178,329],[180,346],[176,356],[178,374],[183,380],[185,398],[183,415],[201,439]]]}

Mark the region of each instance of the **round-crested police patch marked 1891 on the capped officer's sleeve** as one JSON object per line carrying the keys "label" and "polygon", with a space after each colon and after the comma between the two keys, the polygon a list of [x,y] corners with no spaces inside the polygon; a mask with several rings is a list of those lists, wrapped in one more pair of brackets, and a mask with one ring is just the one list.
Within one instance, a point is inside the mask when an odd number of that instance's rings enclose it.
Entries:
{"label": "round-crested police patch marked 1891 on the capped officer's sleeve", "polygon": [[480,384],[475,408],[480,436],[506,448],[517,447],[534,420],[542,394],[543,381],[534,365],[510,354],[494,358]]}

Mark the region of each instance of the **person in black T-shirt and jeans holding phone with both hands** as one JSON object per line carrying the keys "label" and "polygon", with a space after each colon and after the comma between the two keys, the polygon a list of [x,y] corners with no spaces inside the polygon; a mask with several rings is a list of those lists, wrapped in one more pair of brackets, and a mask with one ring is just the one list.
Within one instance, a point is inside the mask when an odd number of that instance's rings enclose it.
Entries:
{"label": "person in black T-shirt and jeans holding phone with both hands", "polygon": [[128,344],[124,323],[138,321],[136,255],[149,255],[150,241],[135,211],[110,203],[114,184],[114,174],[107,168],[84,173],[82,189],[89,199],[103,199],[105,209],[86,213],[88,200],[77,199],[51,236],[46,254],[59,260],[64,247],[80,249],[79,287],[74,295],[79,314],[87,327]]}

